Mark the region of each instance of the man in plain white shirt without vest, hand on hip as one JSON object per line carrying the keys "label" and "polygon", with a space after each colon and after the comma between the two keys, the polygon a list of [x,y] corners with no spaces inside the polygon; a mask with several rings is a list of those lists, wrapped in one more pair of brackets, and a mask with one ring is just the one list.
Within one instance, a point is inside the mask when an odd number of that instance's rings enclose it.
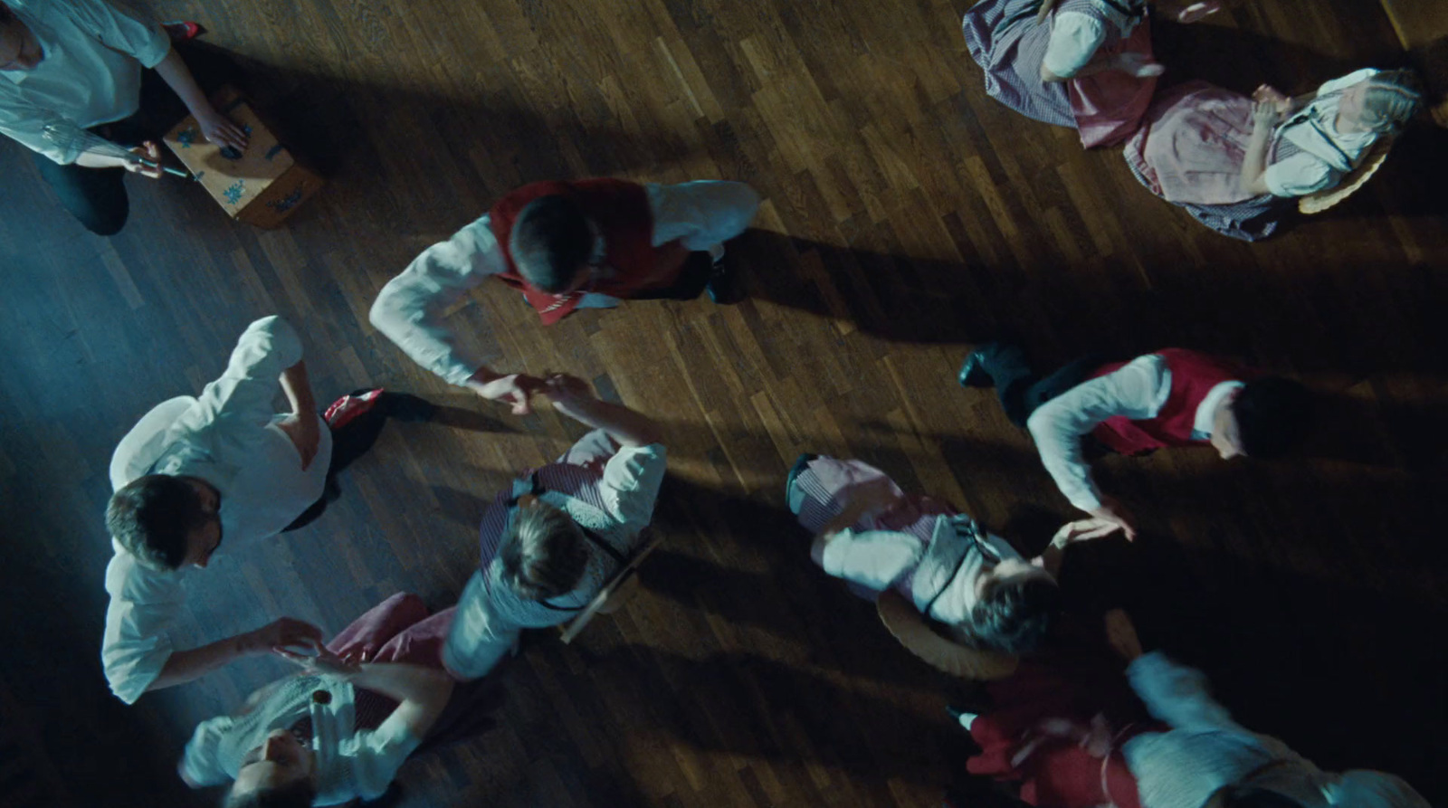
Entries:
{"label": "man in plain white shirt without vest, hand on hip", "polygon": [[[272,407],[278,381],[291,411]],[[356,404],[362,401],[362,404]],[[385,407],[375,407],[378,401]],[[410,397],[404,401],[416,401]],[[330,475],[371,446],[394,398],[348,397],[353,417],[336,432],[316,413],[297,332],[281,317],[252,323],[226,372],[200,398],[162,403],[111,458],[116,494],[106,510],[114,557],[106,568],[101,662],[111,691],[132,704],[146,691],[195,679],[243,656],[320,640],[291,618],[188,650],[168,634],[185,602],[188,568],[206,568],[220,547],[236,552],[314,518]],[[333,452],[333,437],[339,452]],[[224,543],[223,543],[224,540]]]}

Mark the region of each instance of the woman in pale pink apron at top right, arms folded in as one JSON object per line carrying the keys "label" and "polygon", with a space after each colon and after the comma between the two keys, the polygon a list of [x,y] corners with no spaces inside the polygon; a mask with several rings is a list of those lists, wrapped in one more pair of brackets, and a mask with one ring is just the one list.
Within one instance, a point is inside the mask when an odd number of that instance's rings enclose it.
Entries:
{"label": "woman in pale pink apron at top right, arms folded in", "polygon": [[1296,98],[1189,81],[1151,103],[1124,156],[1153,194],[1254,242],[1277,232],[1290,200],[1342,182],[1420,103],[1409,70],[1358,70]]}

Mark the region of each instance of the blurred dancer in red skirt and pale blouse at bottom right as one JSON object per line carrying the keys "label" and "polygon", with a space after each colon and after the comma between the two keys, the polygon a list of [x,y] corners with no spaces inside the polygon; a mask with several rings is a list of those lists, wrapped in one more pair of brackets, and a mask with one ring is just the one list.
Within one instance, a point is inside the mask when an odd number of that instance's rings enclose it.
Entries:
{"label": "blurred dancer in red skirt and pale blouse at bottom right", "polygon": [[1144,653],[1125,613],[1106,634],[1115,655],[1061,650],[986,685],[992,707],[959,715],[982,750],[973,775],[1041,808],[1428,808],[1397,776],[1323,772],[1237,724],[1200,670]]}

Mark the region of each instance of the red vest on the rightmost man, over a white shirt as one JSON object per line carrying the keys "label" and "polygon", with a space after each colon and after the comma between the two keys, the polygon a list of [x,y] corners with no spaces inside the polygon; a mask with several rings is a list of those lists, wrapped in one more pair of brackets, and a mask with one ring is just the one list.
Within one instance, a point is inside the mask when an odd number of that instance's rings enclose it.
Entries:
{"label": "red vest on the rightmost man, over a white shirt", "polygon": [[[1202,405],[1212,388],[1225,381],[1245,381],[1248,374],[1231,362],[1197,353],[1184,348],[1157,350],[1171,371],[1171,392],[1157,417],[1141,421],[1114,416],[1096,424],[1092,436],[1108,449],[1122,455],[1142,455],[1163,446],[1200,446],[1208,442],[1192,440],[1196,424],[1196,408]],[[1102,365],[1092,378],[1103,376],[1124,366],[1125,362]]]}

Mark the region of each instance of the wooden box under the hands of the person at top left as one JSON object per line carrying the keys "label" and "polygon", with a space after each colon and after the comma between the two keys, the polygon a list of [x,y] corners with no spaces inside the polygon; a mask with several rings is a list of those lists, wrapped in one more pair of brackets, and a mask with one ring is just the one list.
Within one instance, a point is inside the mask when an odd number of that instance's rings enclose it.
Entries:
{"label": "wooden box under the hands of the person at top left", "polygon": [[245,152],[207,140],[191,116],[167,133],[167,146],[227,216],[256,227],[278,227],[321,188],[321,175],[281,145],[275,129],[239,93],[223,88],[213,103],[246,130]]}

